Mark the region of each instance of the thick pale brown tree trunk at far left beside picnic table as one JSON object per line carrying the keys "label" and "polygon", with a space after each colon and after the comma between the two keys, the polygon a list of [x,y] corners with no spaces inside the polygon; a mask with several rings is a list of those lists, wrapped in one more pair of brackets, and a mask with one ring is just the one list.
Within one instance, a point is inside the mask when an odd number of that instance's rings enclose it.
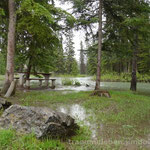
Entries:
{"label": "thick pale brown tree trunk at far left beside picnic table", "polygon": [[14,53],[15,53],[15,30],[16,30],[16,13],[15,0],[9,0],[9,28],[7,43],[7,66],[5,74],[5,83],[2,93],[6,94],[11,82],[14,80]]}

